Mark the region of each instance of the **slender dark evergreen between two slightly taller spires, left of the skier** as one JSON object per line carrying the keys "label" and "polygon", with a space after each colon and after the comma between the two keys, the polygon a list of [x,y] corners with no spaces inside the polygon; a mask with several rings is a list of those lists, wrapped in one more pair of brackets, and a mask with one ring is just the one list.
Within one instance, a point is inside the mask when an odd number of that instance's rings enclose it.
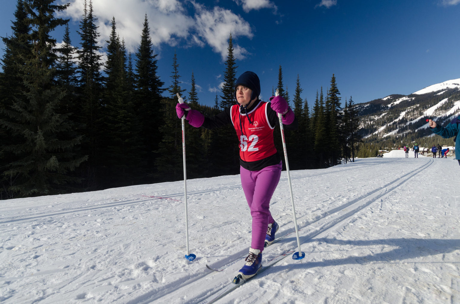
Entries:
{"label": "slender dark evergreen between two slightly taller spires, left of the skier", "polygon": [[137,184],[143,168],[144,151],[140,124],[133,106],[132,82],[128,78],[124,40],[116,33],[115,18],[107,41],[105,62],[104,121],[106,136],[101,142],[105,187]]}

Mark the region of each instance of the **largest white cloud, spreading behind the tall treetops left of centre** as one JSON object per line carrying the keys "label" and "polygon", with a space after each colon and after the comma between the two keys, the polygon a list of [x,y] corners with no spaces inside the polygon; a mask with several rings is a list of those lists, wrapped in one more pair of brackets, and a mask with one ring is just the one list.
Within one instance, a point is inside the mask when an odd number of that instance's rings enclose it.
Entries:
{"label": "largest white cloud, spreading behind the tall treetops left of centre", "polygon": [[[70,2],[68,9],[62,13],[65,14],[64,17],[72,18],[75,23],[80,22],[84,0],[61,2]],[[87,3],[89,5],[89,0]],[[253,37],[249,23],[232,11],[219,6],[208,9],[193,1],[190,3],[195,8],[194,16],[190,16],[183,2],[178,0],[93,0],[93,14],[98,18],[96,25],[101,35],[99,43],[105,45],[105,41],[109,39],[111,20],[115,17],[116,31],[125,39],[127,50],[136,52],[145,14],[149,21],[152,44],[158,49],[161,49],[162,44],[184,47],[209,45],[225,60],[230,32],[234,39],[238,36]],[[247,56],[246,49],[235,43],[234,48],[237,59]]]}

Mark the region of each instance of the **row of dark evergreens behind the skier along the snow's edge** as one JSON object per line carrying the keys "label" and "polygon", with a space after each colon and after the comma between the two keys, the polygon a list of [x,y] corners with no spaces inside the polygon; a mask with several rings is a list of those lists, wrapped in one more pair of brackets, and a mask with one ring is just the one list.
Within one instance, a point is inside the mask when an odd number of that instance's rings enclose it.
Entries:
{"label": "row of dark evergreens behind the skier along the snow's edge", "polygon": [[[117,34],[115,17],[102,62],[97,17],[85,1],[72,46],[68,20],[56,17],[67,5],[53,0],[17,0],[11,36],[2,37],[0,73],[0,198],[92,191],[183,179],[181,120],[176,94],[190,107],[215,115],[235,103],[236,63],[229,36],[222,95],[200,105],[194,74],[180,86],[177,54],[171,85],[157,75],[147,15],[135,54]],[[63,45],[52,31],[65,27]],[[352,98],[341,97],[334,75],[326,96],[316,93],[310,109],[297,77],[291,104],[299,129],[287,132],[290,169],[314,169],[353,160],[360,141]],[[277,127],[279,128],[279,126]],[[239,173],[238,141],[231,126],[217,130],[186,123],[187,178]],[[283,153],[281,132],[277,149]]]}

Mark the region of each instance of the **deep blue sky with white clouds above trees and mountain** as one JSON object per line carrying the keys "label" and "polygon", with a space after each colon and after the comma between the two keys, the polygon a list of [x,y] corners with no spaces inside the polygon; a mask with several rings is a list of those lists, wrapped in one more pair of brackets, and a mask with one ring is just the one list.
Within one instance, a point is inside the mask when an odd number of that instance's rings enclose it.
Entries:
{"label": "deep blue sky with white clouds above trees and mountain", "polygon": [[[80,46],[83,0],[65,2],[71,6],[63,17]],[[161,80],[171,84],[176,51],[182,87],[190,90],[193,71],[201,104],[213,105],[220,95],[230,31],[237,74],[257,73],[265,100],[280,65],[291,100],[299,74],[310,105],[321,86],[326,93],[333,73],[342,101],[352,96],[355,103],[460,78],[460,0],[93,0],[93,6],[101,45],[115,17],[132,53],[147,13]],[[0,36],[11,34],[15,9],[14,0],[2,4]],[[56,31],[58,42],[62,35]]]}

